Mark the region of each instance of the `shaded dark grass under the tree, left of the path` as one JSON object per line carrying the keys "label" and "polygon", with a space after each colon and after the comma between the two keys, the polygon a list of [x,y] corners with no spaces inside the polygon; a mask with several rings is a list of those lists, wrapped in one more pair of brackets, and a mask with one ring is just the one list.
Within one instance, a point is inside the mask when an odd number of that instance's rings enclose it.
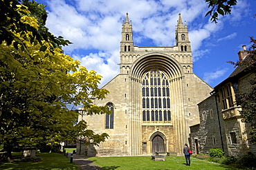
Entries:
{"label": "shaded dark grass under the tree, left of the path", "polygon": [[[22,158],[22,153],[12,153],[14,159]],[[0,169],[21,170],[21,169],[66,169],[78,170],[75,163],[71,163],[69,158],[60,153],[37,153],[37,158],[42,158],[40,162],[0,162]]]}

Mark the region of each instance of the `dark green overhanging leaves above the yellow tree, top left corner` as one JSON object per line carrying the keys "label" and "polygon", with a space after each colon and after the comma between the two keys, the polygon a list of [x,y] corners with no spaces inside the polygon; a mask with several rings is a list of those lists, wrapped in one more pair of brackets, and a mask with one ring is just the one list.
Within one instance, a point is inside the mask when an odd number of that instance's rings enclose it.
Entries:
{"label": "dark green overhanging leaves above the yellow tree, top left corner", "polygon": [[[64,40],[62,36],[53,36],[45,27],[42,27],[47,17],[47,13],[42,4],[27,0],[24,0],[24,3],[30,7],[30,10],[33,9],[31,10],[33,12],[28,12],[26,6],[21,5],[19,0],[0,1],[0,44],[3,42],[7,43],[7,45],[13,44],[17,50],[19,47],[21,51],[24,51],[27,49],[27,45],[21,37],[28,32],[32,33],[30,35],[30,43],[40,43],[40,45],[43,45],[42,41],[46,41],[51,44],[49,46],[51,53],[54,53],[53,49],[55,47],[61,47],[61,45],[71,43]],[[30,23],[24,22],[24,16],[37,16],[41,29],[38,30]],[[21,34],[21,36],[17,36],[17,34]]]}

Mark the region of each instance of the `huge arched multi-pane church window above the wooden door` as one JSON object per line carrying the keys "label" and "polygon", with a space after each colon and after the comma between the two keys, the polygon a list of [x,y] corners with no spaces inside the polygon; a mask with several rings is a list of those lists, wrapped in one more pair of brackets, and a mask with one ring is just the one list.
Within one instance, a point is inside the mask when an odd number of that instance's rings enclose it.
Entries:
{"label": "huge arched multi-pane church window above the wooden door", "polygon": [[170,87],[160,70],[147,72],[142,81],[143,122],[170,123]]}

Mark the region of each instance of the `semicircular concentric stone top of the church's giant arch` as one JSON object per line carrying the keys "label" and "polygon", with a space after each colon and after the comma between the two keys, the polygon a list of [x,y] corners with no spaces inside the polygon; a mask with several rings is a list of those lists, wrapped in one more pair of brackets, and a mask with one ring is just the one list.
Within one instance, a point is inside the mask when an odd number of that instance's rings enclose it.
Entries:
{"label": "semicircular concentric stone top of the church's giant arch", "polygon": [[151,53],[141,56],[131,66],[130,76],[140,81],[145,72],[153,69],[165,72],[170,81],[184,76],[179,62],[172,58],[172,56],[162,53]]}

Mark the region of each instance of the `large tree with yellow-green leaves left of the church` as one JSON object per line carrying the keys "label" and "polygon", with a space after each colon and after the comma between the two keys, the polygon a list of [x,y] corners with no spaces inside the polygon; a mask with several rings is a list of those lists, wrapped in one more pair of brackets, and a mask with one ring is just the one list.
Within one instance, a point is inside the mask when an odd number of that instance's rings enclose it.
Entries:
{"label": "large tree with yellow-green leaves left of the church", "polygon": [[79,113],[68,105],[83,105],[89,115],[108,113],[91,100],[108,93],[98,87],[102,76],[63,53],[60,45],[69,41],[42,29],[42,4],[24,3],[28,7],[0,0],[1,144],[10,152],[15,146],[57,145],[84,136],[98,145],[108,135],[95,134],[84,121],[76,123]]}

